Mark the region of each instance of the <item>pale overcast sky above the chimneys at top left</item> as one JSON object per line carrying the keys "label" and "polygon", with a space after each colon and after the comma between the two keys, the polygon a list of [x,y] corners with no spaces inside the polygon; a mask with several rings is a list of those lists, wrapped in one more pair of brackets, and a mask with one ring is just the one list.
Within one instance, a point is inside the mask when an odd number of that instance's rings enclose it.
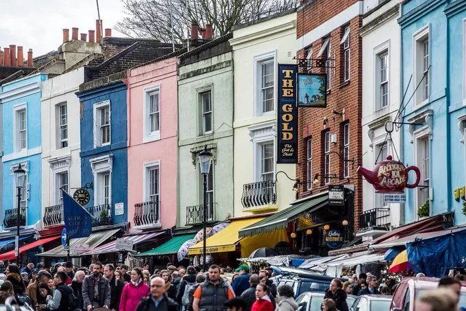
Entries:
{"label": "pale overcast sky above the chimneys at top left", "polygon": [[[122,36],[114,25],[124,16],[120,0],[99,0],[103,29]],[[95,30],[96,0],[0,0],[0,47],[23,46],[24,57],[32,49],[34,57],[57,49],[62,29],[78,27],[80,33]]]}

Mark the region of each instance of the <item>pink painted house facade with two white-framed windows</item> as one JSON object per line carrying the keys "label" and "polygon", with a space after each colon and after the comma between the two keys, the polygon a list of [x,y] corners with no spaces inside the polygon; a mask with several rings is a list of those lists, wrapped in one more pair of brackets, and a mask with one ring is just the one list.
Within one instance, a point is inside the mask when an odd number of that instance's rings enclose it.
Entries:
{"label": "pink painted house facade with two white-framed windows", "polygon": [[171,228],[177,214],[176,57],[130,69],[127,86],[128,221],[132,231]]}

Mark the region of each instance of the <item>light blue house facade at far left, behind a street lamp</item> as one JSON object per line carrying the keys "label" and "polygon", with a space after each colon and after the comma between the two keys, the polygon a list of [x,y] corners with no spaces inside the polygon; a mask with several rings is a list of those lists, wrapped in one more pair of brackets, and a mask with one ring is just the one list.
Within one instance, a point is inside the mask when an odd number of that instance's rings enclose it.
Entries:
{"label": "light blue house facade at far left, behind a street lamp", "polygon": [[41,220],[40,85],[44,80],[47,80],[47,75],[38,73],[1,86],[3,228],[16,226],[17,198],[13,171],[19,163],[26,171],[20,223],[32,225]]}

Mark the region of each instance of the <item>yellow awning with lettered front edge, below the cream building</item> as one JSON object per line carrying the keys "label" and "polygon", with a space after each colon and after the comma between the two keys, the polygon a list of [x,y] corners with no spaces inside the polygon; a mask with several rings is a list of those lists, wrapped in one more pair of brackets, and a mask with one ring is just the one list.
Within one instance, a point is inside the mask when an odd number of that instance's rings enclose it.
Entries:
{"label": "yellow awning with lettered front edge, below the cream building", "polygon": [[[206,251],[207,253],[223,253],[228,251],[235,251],[236,244],[238,244],[240,238],[238,237],[238,231],[255,224],[256,222],[264,219],[265,217],[248,218],[233,220],[228,227],[212,235],[206,240]],[[202,253],[203,241],[192,246],[188,255],[198,255]]]}

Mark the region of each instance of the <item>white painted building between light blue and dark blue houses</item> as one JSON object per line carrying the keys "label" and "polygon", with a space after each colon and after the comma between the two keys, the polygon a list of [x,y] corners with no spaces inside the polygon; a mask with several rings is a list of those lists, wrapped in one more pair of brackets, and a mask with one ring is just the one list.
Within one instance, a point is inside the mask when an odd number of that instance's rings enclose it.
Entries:
{"label": "white painted building between light blue and dark blue houses", "polygon": [[62,221],[60,187],[73,194],[81,187],[79,99],[84,67],[42,82],[42,222]]}

